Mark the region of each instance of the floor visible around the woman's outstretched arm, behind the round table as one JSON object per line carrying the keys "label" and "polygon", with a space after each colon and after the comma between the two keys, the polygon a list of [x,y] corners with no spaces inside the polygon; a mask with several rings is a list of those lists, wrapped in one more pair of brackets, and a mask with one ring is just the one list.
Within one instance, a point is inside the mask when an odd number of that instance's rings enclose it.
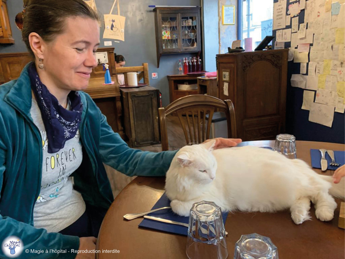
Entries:
{"label": "floor visible around the woman's outstretched arm, behind the round table", "polygon": [[[180,122],[177,116],[168,116],[167,120],[167,129],[168,129],[168,143],[169,150],[178,150],[179,148],[186,145],[186,140],[184,137],[183,130],[180,126]],[[161,144],[139,147],[142,151],[150,152],[160,152],[162,151]],[[136,176],[129,177],[125,174],[116,171],[108,165],[104,165],[107,171],[107,175],[110,181],[111,189],[114,195],[114,198],[120,193],[120,191],[125,188],[125,186],[130,183]]]}

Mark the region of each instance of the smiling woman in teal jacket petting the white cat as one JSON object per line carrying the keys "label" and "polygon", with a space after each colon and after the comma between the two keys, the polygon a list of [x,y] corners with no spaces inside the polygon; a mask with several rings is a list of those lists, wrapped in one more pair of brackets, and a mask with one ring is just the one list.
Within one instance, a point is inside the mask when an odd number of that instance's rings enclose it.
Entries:
{"label": "smiling woman in teal jacket petting the white cat", "polygon": [[22,38],[34,62],[0,87],[0,239],[45,251],[26,258],[94,258],[70,251],[95,249],[114,200],[103,163],[130,176],[163,176],[175,152],[129,148],[81,92],[97,66],[95,12],[82,0],[31,0],[24,10]]}

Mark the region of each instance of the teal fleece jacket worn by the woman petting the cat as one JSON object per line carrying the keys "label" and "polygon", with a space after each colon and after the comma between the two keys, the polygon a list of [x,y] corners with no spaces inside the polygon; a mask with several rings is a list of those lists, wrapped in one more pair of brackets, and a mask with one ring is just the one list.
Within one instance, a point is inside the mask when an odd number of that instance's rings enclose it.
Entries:
{"label": "teal fleece jacket worn by the woman petting the cat", "polygon": [[[70,251],[78,250],[78,237],[47,233],[33,224],[33,207],[41,186],[42,139],[30,116],[32,95],[27,68],[17,80],[0,85],[0,244],[16,236],[24,248],[18,258],[75,258],[77,254]],[[87,204],[108,209],[114,197],[103,163],[128,176],[164,176],[176,151],[152,153],[129,148],[112,131],[91,97],[84,92],[80,95],[83,158],[71,175],[74,189]],[[48,253],[26,253],[26,249]],[[67,252],[49,253],[49,249]],[[7,258],[2,249],[0,258]]]}

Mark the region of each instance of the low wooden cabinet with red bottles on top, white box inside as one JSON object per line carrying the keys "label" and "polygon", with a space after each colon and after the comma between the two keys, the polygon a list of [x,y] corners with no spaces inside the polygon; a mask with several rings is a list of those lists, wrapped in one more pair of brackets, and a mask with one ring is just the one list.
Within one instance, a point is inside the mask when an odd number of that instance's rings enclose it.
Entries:
{"label": "low wooden cabinet with red bottles on top, white box inside", "polygon": [[197,84],[197,75],[168,75],[169,81],[169,99],[170,103],[174,102],[178,98],[198,94],[198,89],[195,90],[179,90],[177,85],[178,84],[185,84],[188,82],[189,85]]}

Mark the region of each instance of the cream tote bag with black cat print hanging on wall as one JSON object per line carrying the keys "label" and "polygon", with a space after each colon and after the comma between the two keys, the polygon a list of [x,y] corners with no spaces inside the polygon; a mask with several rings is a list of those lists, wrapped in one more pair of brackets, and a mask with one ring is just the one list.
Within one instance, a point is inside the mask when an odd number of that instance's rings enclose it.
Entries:
{"label": "cream tote bag with black cat print hanging on wall", "polygon": [[[115,3],[117,1],[118,15],[112,15]],[[126,17],[120,16],[119,1],[115,0],[109,15],[104,15],[104,33],[103,39],[114,39],[125,41],[125,21]]]}

